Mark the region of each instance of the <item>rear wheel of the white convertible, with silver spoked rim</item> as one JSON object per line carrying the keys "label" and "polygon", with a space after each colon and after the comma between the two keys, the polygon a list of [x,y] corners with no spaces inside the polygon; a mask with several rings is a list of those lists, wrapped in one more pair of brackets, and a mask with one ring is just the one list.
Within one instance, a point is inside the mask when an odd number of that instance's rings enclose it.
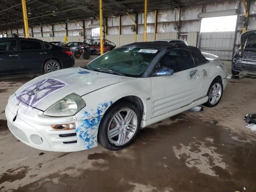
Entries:
{"label": "rear wheel of the white convertible, with silver spoked rim", "polygon": [[204,104],[207,107],[215,107],[218,105],[223,94],[223,84],[220,79],[214,79],[207,92],[208,101]]}

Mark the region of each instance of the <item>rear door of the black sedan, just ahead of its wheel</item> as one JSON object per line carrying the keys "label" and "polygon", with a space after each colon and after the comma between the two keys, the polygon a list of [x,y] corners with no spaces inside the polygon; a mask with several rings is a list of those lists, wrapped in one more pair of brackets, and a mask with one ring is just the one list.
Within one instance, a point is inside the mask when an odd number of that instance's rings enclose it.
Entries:
{"label": "rear door of the black sedan, just ahead of its wheel", "polygon": [[43,50],[40,41],[20,40],[20,65],[22,71],[41,71],[48,59],[48,50]]}

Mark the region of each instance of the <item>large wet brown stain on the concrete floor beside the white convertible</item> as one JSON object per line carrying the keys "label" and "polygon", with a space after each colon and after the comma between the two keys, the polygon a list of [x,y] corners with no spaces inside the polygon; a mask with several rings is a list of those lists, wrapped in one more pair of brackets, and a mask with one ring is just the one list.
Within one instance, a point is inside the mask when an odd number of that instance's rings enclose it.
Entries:
{"label": "large wet brown stain on the concrete floor beside the white convertible", "polygon": [[128,148],[88,155],[92,168],[80,176],[57,172],[17,191],[256,191],[256,145],[247,135],[198,119],[156,125]]}

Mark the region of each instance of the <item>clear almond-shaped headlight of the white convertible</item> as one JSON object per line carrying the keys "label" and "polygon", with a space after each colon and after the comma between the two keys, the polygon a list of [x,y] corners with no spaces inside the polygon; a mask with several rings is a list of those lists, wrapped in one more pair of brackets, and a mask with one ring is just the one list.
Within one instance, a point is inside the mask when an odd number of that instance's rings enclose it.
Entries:
{"label": "clear almond-shaped headlight of the white convertible", "polygon": [[73,116],[86,106],[86,102],[79,95],[72,93],[54,103],[44,112],[46,116]]}

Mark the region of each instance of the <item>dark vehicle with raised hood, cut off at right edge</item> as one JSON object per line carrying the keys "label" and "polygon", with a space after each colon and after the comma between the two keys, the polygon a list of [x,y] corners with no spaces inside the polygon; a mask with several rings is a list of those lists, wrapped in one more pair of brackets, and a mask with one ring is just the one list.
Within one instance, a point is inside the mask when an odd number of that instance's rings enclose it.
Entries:
{"label": "dark vehicle with raised hood, cut off at right edge", "polygon": [[232,74],[240,71],[256,73],[256,30],[245,32],[240,38],[241,49],[232,59]]}

